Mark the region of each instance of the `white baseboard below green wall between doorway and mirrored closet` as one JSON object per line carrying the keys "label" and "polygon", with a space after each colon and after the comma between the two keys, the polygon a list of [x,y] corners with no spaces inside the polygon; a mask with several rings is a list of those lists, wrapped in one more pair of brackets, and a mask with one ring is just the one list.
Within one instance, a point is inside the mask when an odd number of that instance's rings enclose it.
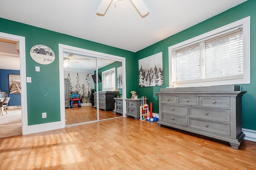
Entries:
{"label": "white baseboard below green wall between doorway and mirrored closet", "polygon": [[51,131],[51,130],[60,129],[60,128],[61,128],[60,121],[30,125],[27,127],[27,132],[28,132],[27,134]]}

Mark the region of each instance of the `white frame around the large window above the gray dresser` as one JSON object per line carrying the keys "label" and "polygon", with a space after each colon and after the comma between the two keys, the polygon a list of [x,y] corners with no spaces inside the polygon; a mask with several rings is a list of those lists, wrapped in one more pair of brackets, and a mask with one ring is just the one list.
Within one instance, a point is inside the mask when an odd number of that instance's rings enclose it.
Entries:
{"label": "white frame around the large window above the gray dresser", "polygon": [[[179,84],[173,84],[172,80],[172,52],[174,49],[177,49],[182,46],[189,45],[190,43],[194,43],[196,41],[200,41],[202,39],[206,39],[207,37],[212,37],[214,35],[220,34],[222,32],[225,32],[229,29],[241,26],[243,27],[243,60],[244,60],[244,74],[243,78],[241,79],[232,79],[232,80],[214,80],[214,81],[200,81],[198,79],[197,81],[193,82],[182,82]],[[197,37],[188,39],[186,41],[183,41],[181,43],[178,43],[176,45],[172,45],[168,47],[168,53],[169,53],[169,87],[189,87],[189,86],[211,86],[211,85],[229,85],[229,84],[250,84],[250,16],[243,18],[241,20],[235,21],[233,23],[230,23],[228,25],[224,25],[220,28],[214,29],[212,31],[209,31],[207,33],[204,33],[202,35],[199,35]],[[201,79],[202,80],[202,79]]]}

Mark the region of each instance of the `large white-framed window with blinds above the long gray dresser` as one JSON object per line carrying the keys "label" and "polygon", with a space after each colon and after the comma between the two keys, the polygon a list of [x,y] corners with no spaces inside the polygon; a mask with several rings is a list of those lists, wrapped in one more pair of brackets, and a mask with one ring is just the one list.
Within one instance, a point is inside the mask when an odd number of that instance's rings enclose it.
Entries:
{"label": "large white-framed window with blinds above the long gray dresser", "polygon": [[250,83],[250,17],[169,47],[170,86]]}

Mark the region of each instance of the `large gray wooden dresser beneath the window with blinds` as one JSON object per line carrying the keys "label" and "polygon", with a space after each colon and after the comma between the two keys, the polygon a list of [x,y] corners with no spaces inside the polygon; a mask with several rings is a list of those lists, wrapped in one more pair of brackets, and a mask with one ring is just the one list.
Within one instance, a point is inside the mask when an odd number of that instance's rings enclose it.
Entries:
{"label": "large gray wooden dresser beneath the window with blinds", "polygon": [[238,149],[242,132],[240,86],[164,88],[159,96],[158,126],[166,125],[229,142]]}

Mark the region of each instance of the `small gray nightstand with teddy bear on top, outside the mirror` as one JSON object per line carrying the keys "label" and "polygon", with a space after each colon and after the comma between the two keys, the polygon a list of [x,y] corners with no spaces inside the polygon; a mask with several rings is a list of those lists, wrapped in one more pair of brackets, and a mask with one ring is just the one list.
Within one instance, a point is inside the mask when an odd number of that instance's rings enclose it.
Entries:
{"label": "small gray nightstand with teddy bear on top, outside the mirror", "polygon": [[127,113],[125,114],[127,117],[134,117],[135,120],[140,118],[140,106],[141,99],[125,99],[126,100],[126,109]]}

